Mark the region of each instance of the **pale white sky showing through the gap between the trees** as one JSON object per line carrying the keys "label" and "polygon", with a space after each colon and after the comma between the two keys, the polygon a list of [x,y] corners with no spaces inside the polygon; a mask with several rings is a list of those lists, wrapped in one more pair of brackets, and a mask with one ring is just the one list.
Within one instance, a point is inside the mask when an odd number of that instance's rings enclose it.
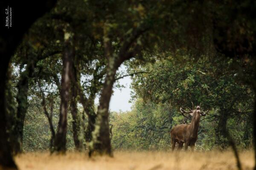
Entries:
{"label": "pale white sky showing through the gap between the trees", "polygon": [[[121,65],[119,71],[125,71],[125,67]],[[119,79],[120,85],[124,85],[125,88],[122,88],[121,91],[119,89],[113,89],[113,95],[111,96],[111,101],[109,105],[110,111],[131,111],[132,103],[129,103],[129,99],[131,99],[131,78],[124,77]],[[99,103],[99,99],[96,98],[95,103]]]}

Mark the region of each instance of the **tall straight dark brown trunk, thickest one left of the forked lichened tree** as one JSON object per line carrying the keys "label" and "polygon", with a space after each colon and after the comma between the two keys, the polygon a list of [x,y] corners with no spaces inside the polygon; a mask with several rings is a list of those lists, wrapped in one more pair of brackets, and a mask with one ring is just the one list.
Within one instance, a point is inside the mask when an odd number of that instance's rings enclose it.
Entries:
{"label": "tall straight dark brown trunk, thickest one left of the forked lichened tree", "polygon": [[[68,33],[65,33],[68,34]],[[63,69],[61,75],[61,106],[60,106],[60,117],[58,122],[58,131],[55,136],[54,150],[59,153],[66,152],[66,136],[67,136],[67,110],[68,100],[70,92],[70,71],[71,71],[71,57],[73,57],[73,47],[71,43],[70,34],[64,37],[65,47],[63,54]]]}

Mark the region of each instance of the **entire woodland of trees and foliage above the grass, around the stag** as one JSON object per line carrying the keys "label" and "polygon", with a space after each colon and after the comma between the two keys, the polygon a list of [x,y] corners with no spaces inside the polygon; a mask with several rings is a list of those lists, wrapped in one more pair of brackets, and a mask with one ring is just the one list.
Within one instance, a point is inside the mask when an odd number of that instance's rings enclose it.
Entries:
{"label": "entire woodland of trees and foliage above the grass, around the stag", "polygon": [[[255,146],[256,2],[38,5],[32,17],[17,11],[20,28],[1,31],[0,166],[16,168],[12,156],[24,150],[166,149],[171,128],[189,122],[179,108],[191,102],[209,110],[198,149],[224,149],[231,137]],[[134,108],[110,113],[121,65],[132,76]]]}

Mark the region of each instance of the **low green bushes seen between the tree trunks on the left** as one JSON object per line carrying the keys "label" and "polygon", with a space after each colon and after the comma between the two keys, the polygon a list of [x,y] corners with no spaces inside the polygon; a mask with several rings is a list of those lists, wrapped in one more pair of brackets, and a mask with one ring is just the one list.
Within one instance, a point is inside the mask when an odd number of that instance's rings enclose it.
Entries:
{"label": "low green bushes seen between the tree trunks on the left", "polygon": [[[33,99],[35,101],[35,99]],[[29,110],[26,114],[24,129],[23,129],[23,150],[26,152],[49,150],[51,131],[49,129],[49,122],[43,113],[43,108],[36,103],[30,103]],[[55,131],[58,125],[58,105],[54,109],[53,125]],[[72,117],[68,114],[67,126],[67,150],[74,150],[75,145],[72,133]]]}

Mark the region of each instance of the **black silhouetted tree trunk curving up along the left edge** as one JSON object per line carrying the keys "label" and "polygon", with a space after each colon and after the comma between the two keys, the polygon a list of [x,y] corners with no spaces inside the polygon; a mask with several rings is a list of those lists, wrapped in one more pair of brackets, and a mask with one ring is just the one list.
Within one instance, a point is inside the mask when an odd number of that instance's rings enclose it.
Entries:
{"label": "black silhouetted tree trunk curving up along the left edge", "polygon": [[[45,12],[49,11],[56,3],[56,0],[41,0],[36,2],[23,1],[0,1],[0,6],[7,6],[15,9],[15,26],[5,30],[1,29],[0,33],[0,167],[3,169],[17,169],[11,155],[11,148],[7,142],[6,134],[6,73],[9,65],[9,60],[14,54],[14,51],[23,37],[23,34],[28,30],[31,24],[41,17]],[[30,8],[30,7],[33,8]],[[1,16],[5,14],[1,10]],[[33,15],[31,15],[33,14]],[[23,20],[26,18],[26,20]],[[1,26],[3,28],[3,26]]]}

